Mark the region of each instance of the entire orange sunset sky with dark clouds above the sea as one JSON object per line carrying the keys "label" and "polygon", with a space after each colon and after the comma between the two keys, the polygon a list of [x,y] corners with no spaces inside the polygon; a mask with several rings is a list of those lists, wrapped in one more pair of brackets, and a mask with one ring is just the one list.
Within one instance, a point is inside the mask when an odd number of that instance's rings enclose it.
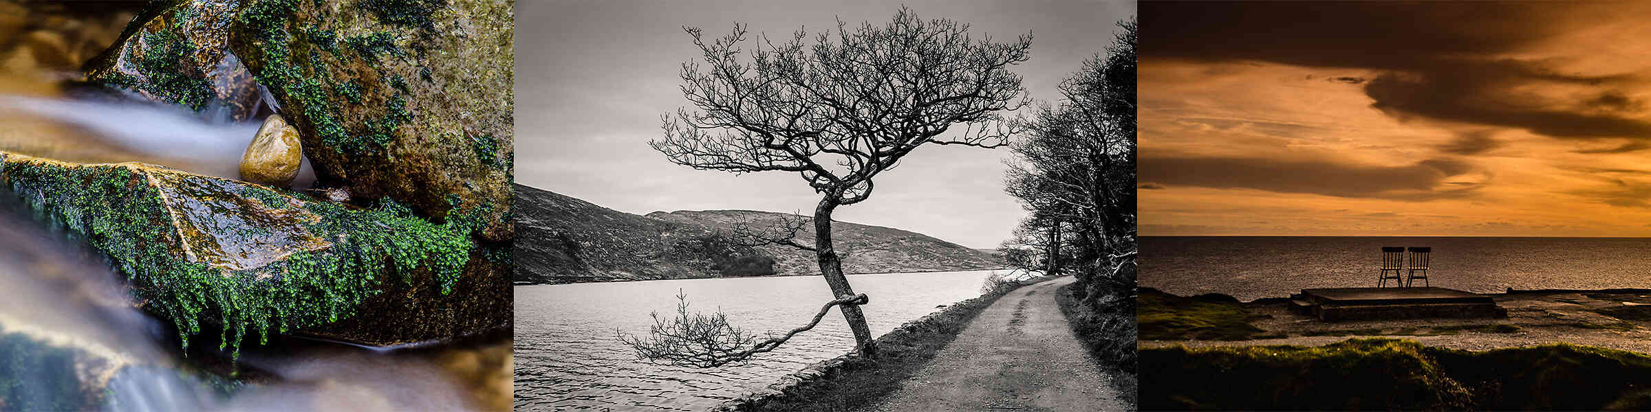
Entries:
{"label": "entire orange sunset sky with dark clouds above the sea", "polygon": [[1648,3],[1142,3],[1141,234],[1651,236]]}

